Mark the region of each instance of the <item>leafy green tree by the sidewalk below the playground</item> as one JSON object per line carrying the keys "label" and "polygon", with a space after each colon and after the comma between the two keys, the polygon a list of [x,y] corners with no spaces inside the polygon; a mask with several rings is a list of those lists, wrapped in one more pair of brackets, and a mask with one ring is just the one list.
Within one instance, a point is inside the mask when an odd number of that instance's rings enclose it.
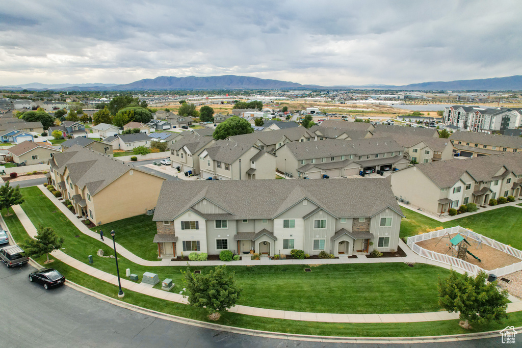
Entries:
{"label": "leafy green tree by the sidewalk below the playground", "polygon": [[438,303],[449,312],[460,312],[465,329],[471,328],[469,321],[502,322],[507,318],[507,291],[499,291],[496,281],[486,283],[487,277],[484,272],[473,278],[452,270],[448,278],[438,280]]}

